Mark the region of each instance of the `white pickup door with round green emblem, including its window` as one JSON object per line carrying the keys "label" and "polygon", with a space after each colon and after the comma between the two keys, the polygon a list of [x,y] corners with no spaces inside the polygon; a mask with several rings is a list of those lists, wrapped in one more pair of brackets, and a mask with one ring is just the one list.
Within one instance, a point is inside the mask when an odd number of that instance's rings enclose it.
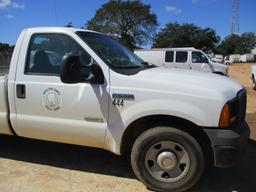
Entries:
{"label": "white pickup door with round green emblem, including its window", "polygon": [[[108,121],[108,77],[103,85],[62,83],[62,57],[70,52],[79,54],[83,65],[90,64],[91,56],[67,35],[31,37],[14,85],[14,129],[19,136],[102,147]],[[86,69],[84,76],[89,75]]]}

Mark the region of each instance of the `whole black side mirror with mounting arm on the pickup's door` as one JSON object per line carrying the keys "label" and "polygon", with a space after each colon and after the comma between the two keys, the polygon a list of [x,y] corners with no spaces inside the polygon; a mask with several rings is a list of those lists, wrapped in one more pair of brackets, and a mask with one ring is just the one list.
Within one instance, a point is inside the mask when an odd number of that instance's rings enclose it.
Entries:
{"label": "whole black side mirror with mounting arm on the pickup's door", "polygon": [[[89,76],[83,77],[82,69],[86,69]],[[79,55],[69,53],[62,59],[60,78],[63,83],[75,84],[89,82],[92,84],[104,84],[104,74],[100,66],[91,59],[89,65],[82,66]]]}

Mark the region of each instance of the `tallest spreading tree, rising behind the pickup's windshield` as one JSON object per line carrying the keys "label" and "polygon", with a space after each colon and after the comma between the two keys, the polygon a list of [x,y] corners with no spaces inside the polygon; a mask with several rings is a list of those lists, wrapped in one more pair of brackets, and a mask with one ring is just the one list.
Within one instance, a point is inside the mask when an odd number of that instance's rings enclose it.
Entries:
{"label": "tallest spreading tree, rising behind the pickup's windshield", "polygon": [[150,9],[139,0],[111,0],[96,11],[85,28],[106,33],[134,49],[150,43],[155,35],[157,17]]}

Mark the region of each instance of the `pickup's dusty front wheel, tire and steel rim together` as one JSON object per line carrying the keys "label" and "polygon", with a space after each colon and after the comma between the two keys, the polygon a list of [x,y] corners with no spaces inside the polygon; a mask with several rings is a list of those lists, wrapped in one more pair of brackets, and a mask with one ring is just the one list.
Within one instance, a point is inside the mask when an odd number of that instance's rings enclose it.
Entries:
{"label": "pickup's dusty front wheel, tire and steel rim together", "polygon": [[185,191],[195,185],[205,168],[202,149],[194,137],[171,127],[142,133],[131,151],[134,174],[155,191]]}

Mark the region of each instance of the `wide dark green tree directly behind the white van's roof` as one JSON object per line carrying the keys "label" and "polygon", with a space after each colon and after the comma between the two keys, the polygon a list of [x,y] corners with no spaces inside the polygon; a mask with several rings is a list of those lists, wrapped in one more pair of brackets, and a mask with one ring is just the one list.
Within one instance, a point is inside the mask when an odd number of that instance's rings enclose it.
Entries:
{"label": "wide dark green tree directly behind the white van's roof", "polygon": [[168,23],[154,39],[153,47],[195,47],[214,50],[220,37],[211,28],[202,29],[194,24]]}

